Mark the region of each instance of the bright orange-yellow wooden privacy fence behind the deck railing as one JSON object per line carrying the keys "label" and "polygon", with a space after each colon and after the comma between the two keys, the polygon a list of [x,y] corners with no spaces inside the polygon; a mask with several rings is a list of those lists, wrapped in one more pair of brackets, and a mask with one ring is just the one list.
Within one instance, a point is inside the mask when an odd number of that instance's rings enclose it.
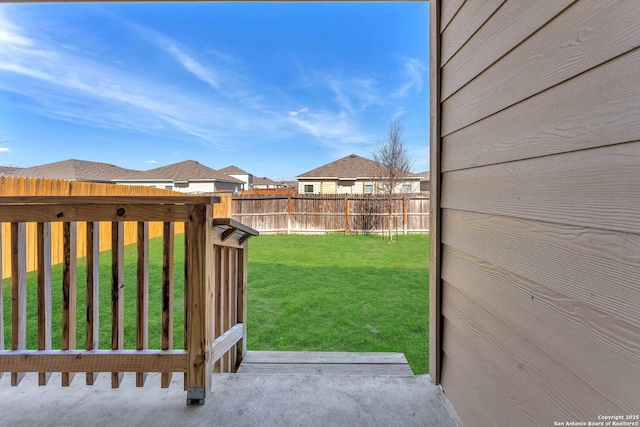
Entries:
{"label": "bright orange-yellow wooden privacy fence behind the deck railing", "polygon": [[[65,181],[58,179],[40,179],[40,178],[20,178],[4,176],[0,177],[0,196],[176,196],[184,197],[184,193],[177,191],[169,191],[154,187],[132,186],[105,184],[96,182],[79,182]],[[221,199],[221,203],[214,205],[213,214],[216,218],[231,218],[231,194],[217,195]],[[105,236],[99,242],[100,251],[110,248],[111,226],[108,223],[101,223],[100,235]],[[0,234],[9,236],[9,224],[0,225]],[[77,230],[78,257],[86,255],[87,247],[85,236],[85,224],[79,223]],[[62,253],[62,223],[51,224],[51,261],[53,264],[60,264],[63,259]],[[175,225],[175,232],[184,232],[183,224]],[[162,236],[163,224],[161,222],[149,223],[149,238]],[[35,224],[27,224],[25,230],[27,245],[27,271],[33,271],[37,266],[36,259],[36,235]],[[134,243],[137,239],[136,224],[134,222],[125,222],[124,224],[124,244]],[[11,242],[8,238],[0,239],[0,250],[8,253],[11,249]],[[9,265],[2,266],[1,278],[11,276]]]}

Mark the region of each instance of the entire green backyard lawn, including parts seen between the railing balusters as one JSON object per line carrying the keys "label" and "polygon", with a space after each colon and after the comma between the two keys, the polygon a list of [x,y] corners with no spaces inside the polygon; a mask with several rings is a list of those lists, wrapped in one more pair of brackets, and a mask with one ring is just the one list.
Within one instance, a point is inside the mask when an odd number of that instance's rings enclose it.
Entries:
{"label": "entire green backyard lawn, including parts seen between the railing balusters", "polygon": [[[160,348],[161,239],[150,241],[149,347]],[[414,373],[428,366],[429,237],[263,235],[249,243],[250,350],[389,351]],[[176,260],[182,260],[182,236]],[[135,348],[136,248],[125,248],[125,347]],[[85,270],[78,260],[78,347],[84,346]],[[100,256],[100,347],[110,345],[110,252]],[[61,268],[53,268],[53,348],[60,348]],[[174,344],[183,344],[183,266],[175,267]],[[36,275],[28,274],[27,347],[37,348]],[[11,284],[3,283],[5,348],[10,348]]]}

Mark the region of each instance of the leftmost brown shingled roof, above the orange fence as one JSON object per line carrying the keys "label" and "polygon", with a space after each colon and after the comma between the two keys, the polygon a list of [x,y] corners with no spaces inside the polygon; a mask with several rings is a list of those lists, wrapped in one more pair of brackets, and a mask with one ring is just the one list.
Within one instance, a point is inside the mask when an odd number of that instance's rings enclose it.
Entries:
{"label": "leftmost brown shingled roof, above the orange fence", "polygon": [[110,182],[116,178],[128,178],[139,171],[125,169],[109,163],[69,159],[30,168],[17,168],[7,175],[24,178],[66,179],[69,181]]}

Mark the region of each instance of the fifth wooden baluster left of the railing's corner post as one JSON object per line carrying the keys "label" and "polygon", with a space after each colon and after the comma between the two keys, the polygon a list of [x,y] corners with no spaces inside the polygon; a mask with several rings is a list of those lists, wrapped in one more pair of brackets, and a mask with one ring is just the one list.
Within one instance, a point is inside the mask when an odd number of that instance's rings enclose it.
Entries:
{"label": "fifth wooden baluster left of the railing's corner post", "polygon": [[[74,350],[76,348],[77,224],[64,222],[62,234],[62,350]],[[62,386],[68,387],[73,376],[71,372],[63,372]]]}

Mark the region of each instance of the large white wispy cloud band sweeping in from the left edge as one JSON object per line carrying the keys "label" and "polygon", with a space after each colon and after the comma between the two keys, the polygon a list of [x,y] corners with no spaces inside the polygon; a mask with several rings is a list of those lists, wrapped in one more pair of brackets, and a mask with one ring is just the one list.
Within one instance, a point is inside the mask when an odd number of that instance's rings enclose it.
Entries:
{"label": "large white wispy cloud band sweeping in from the left edge", "polygon": [[[230,134],[264,135],[277,128],[271,123],[275,113],[246,108],[257,99],[248,89],[226,93],[231,100],[212,100],[201,91],[190,93],[173,82],[128,70],[122,61],[99,62],[51,38],[30,35],[6,16],[0,15],[0,26],[0,88],[31,98],[39,114],[151,135],[192,136],[220,149],[228,149],[224,139]],[[220,88],[214,70],[184,53],[179,44],[162,40],[164,50],[189,73]]]}

